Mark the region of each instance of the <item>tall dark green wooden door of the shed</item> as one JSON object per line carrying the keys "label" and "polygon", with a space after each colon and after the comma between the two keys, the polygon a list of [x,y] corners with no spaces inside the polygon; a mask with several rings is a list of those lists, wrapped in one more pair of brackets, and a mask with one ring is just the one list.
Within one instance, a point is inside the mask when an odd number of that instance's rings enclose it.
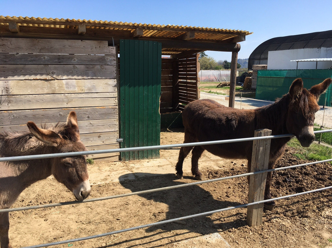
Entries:
{"label": "tall dark green wooden door of the shed", "polygon": [[[120,40],[120,148],[160,145],[161,43]],[[122,160],[159,158],[159,150],[120,153]]]}

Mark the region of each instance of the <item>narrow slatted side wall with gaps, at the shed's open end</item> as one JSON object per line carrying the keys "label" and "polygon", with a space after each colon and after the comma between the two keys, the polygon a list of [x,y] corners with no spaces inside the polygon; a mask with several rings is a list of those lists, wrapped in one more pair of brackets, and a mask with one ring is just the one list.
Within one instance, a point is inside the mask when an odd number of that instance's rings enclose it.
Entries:
{"label": "narrow slatted side wall with gaps, at the shed's open end", "polygon": [[193,54],[179,59],[179,82],[178,82],[178,110],[183,110],[186,104],[199,99],[198,57]]}

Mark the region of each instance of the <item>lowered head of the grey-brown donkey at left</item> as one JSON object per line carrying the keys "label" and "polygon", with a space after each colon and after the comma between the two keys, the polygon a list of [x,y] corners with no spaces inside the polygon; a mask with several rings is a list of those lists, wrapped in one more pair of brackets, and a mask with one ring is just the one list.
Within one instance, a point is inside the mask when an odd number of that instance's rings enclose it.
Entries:
{"label": "lowered head of the grey-brown donkey at left", "polygon": [[[47,146],[55,148],[55,153],[86,151],[80,140],[77,117],[74,111],[59,130],[38,128],[34,122],[27,123],[30,132]],[[87,198],[91,192],[85,156],[66,156],[51,160],[51,172],[55,179],[63,183],[77,200]]]}

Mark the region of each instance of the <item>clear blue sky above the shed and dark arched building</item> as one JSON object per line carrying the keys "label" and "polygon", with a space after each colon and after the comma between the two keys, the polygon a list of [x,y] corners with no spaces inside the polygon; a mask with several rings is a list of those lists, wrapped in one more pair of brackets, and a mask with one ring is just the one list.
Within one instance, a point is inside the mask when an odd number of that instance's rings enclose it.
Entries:
{"label": "clear blue sky above the shed and dark arched building", "polygon": [[[15,3],[15,4],[14,4]],[[1,1],[0,15],[174,24],[253,32],[240,42],[248,58],[262,42],[279,36],[332,30],[331,0],[302,1]],[[218,60],[229,52],[207,51]]]}

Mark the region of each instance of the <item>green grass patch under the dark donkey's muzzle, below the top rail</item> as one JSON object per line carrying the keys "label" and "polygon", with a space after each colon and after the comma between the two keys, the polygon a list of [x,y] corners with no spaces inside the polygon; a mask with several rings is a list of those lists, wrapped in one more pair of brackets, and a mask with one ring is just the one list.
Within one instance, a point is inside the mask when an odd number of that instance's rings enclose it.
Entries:
{"label": "green grass patch under the dark donkey's muzzle, below the top rail", "polygon": [[298,150],[293,155],[300,159],[319,161],[332,158],[332,149],[326,146],[311,144],[310,147],[302,147],[296,138],[292,138],[287,145]]}

